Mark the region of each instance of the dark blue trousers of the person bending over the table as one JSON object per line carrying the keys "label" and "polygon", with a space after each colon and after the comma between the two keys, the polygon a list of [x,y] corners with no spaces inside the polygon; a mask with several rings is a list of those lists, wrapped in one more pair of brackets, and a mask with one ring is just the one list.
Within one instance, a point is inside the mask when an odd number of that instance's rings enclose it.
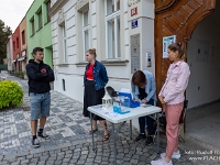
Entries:
{"label": "dark blue trousers of the person bending over the table", "polygon": [[[147,105],[154,106],[154,99],[151,99],[147,102]],[[153,135],[153,122],[154,120],[148,116],[140,117],[139,118],[140,132],[145,134],[145,125],[147,124],[148,135]]]}

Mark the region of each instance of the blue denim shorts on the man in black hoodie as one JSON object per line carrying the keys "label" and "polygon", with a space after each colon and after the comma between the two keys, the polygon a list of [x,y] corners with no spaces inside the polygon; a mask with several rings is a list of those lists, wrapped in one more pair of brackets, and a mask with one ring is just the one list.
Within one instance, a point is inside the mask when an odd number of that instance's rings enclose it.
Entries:
{"label": "blue denim shorts on the man in black hoodie", "polygon": [[37,120],[41,117],[50,117],[51,94],[30,92],[31,120]]}

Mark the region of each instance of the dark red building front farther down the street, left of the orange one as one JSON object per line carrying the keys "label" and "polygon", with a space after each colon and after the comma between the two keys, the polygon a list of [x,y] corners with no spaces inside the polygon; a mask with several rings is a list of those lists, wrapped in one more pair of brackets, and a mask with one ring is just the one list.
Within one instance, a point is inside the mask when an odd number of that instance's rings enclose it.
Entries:
{"label": "dark red building front farther down the street, left of the orange one", "polygon": [[21,62],[18,58],[21,57],[21,44],[20,44],[20,26],[18,26],[12,34],[12,46],[13,46],[13,65],[14,70],[21,70]]}

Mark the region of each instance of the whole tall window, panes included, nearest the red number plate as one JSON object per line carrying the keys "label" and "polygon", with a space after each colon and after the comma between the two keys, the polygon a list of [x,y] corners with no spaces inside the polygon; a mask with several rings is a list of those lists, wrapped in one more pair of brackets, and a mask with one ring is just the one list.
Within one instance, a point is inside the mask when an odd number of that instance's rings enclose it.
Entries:
{"label": "whole tall window, panes included, nearest the red number plate", "polygon": [[107,58],[120,58],[120,0],[106,0],[106,36]]}

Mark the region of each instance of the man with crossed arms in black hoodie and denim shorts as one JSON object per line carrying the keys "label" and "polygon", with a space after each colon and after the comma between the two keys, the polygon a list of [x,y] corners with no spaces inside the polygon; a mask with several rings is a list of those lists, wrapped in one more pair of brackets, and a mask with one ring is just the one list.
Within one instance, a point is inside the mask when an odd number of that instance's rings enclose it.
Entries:
{"label": "man with crossed arms in black hoodie and denim shorts", "polygon": [[26,74],[29,76],[29,92],[31,102],[31,129],[32,129],[32,145],[40,146],[36,138],[37,120],[40,119],[40,129],[37,135],[42,139],[50,139],[43,132],[46,123],[46,118],[50,117],[51,107],[51,86],[54,81],[54,73],[51,67],[43,63],[44,53],[42,47],[35,47],[32,52],[34,59],[30,59],[26,65]]}

